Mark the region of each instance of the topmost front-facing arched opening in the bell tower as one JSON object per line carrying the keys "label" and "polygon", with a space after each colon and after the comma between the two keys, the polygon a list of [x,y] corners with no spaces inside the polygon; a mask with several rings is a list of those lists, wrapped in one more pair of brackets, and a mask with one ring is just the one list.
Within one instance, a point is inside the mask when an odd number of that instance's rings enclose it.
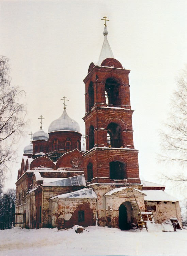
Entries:
{"label": "topmost front-facing arched opening in the bell tower", "polygon": [[[119,85],[120,83],[116,81],[113,77],[106,80],[105,83],[105,98],[108,98],[108,104],[120,105],[119,99]],[[107,99],[106,99],[107,104]]]}

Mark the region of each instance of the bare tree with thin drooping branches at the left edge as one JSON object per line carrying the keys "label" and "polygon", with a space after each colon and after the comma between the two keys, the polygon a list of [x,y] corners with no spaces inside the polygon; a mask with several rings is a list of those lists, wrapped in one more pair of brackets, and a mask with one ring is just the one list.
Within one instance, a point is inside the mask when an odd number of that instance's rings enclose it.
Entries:
{"label": "bare tree with thin drooping branches at the left edge", "polygon": [[23,128],[26,124],[26,107],[19,103],[25,94],[19,87],[11,85],[9,60],[0,56],[0,176],[7,170],[13,159]]}

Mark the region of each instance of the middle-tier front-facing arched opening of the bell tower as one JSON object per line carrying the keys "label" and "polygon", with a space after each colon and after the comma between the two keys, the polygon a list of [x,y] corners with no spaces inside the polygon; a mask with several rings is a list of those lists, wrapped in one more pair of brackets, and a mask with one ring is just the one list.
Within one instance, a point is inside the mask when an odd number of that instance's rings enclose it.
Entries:
{"label": "middle-tier front-facing arched opening of the bell tower", "polygon": [[121,127],[118,124],[110,123],[107,127],[107,143],[110,141],[112,147],[123,146]]}

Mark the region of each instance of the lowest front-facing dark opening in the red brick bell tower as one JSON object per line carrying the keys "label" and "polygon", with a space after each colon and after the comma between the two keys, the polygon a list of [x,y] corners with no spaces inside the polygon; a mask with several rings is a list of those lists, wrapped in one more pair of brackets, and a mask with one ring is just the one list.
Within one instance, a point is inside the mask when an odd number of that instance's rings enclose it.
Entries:
{"label": "lowest front-facing dark opening in the red brick bell tower", "polygon": [[126,163],[119,161],[113,161],[110,165],[110,179],[111,180],[123,180],[126,179]]}

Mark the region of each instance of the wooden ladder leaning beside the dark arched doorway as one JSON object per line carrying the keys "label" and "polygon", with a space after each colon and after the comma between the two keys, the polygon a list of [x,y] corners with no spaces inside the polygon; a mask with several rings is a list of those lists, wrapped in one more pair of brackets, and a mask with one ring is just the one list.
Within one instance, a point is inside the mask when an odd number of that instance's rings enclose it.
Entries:
{"label": "wooden ladder leaning beside the dark arched doorway", "polygon": [[[146,223],[143,220],[143,216],[142,216],[142,213],[140,211],[138,202],[136,200],[133,188],[126,186],[126,191],[127,191],[127,195],[128,195],[130,204],[131,204],[131,206],[133,208],[133,213],[134,213],[133,215],[134,215],[134,217],[135,217],[135,219],[137,221],[137,225],[138,225],[140,231],[141,231],[142,228],[146,228],[146,230],[147,230],[147,225],[146,225]],[[147,232],[148,232],[148,230],[147,230]]]}

